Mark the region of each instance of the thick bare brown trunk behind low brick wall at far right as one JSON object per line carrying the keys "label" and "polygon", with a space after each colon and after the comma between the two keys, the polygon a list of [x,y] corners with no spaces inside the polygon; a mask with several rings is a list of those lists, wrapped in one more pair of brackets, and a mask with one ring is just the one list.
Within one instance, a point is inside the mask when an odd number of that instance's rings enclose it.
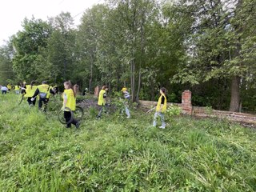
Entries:
{"label": "thick bare brown trunk behind low brick wall at far right", "polygon": [[231,83],[230,111],[238,112],[240,103],[239,93],[240,77],[234,76]]}

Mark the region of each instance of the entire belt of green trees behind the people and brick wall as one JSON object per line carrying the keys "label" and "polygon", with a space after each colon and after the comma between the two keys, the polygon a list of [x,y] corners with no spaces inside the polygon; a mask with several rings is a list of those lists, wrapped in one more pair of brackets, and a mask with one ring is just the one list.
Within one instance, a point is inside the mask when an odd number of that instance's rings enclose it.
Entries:
{"label": "entire belt of green trees behind the people and brick wall", "polygon": [[256,111],[255,0],[110,0],[86,10],[24,18],[0,47],[0,84],[71,80],[81,90],[122,86],[134,102],[192,91],[194,106]]}

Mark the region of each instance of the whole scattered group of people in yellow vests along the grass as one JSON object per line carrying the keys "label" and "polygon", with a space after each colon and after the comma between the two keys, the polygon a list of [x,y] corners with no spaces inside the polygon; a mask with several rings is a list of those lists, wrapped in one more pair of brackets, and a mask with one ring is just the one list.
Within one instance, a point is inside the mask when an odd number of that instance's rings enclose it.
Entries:
{"label": "whole scattered group of people in yellow vests along the grass", "polygon": [[[64,118],[66,119],[66,128],[70,128],[71,124],[74,124],[76,128],[80,126],[80,122],[78,120],[73,119],[72,122],[70,122],[71,118],[71,111],[75,110],[76,106],[76,96],[78,94],[78,86],[74,85],[72,86],[71,82],[64,82],[64,92],[62,94],[63,98],[63,106],[62,110],[64,110]],[[1,87],[2,94],[6,93],[8,88],[6,86]],[[32,81],[30,85],[26,85],[26,83],[23,83],[21,86],[15,86],[14,87],[15,93],[19,94],[19,90],[21,90],[21,93],[24,94],[24,96],[27,98],[27,102],[30,106],[34,106],[36,102],[36,98],[38,96],[38,108],[42,109],[43,105],[47,105],[49,102],[50,94],[57,94],[57,88],[56,86],[50,86],[46,81],[42,82],[42,85],[36,86],[35,82]],[[106,92],[108,90],[107,86],[102,86],[102,90],[100,90],[98,94],[98,106],[100,106],[97,119],[100,119],[102,117],[102,112],[107,111],[107,102],[106,102]],[[122,94],[124,98],[124,109],[126,111],[126,118],[130,118],[130,110],[129,110],[129,102],[130,102],[130,94],[126,87],[122,88]],[[157,125],[157,118],[160,116],[162,125],[159,126],[161,129],[165,129],[166,123],[164,120],[164,114],[166,112],[166,106],[167,106],[167,99],[166,99],[166,89],[162,87],[160,90],[160,97],[158,98],[158,104],[156,106],[156,111],[154,113],[154,121],[153,126]],[[69,110],[67,110],[69,109]],[[46,108],[44,108],[46,110]]]}

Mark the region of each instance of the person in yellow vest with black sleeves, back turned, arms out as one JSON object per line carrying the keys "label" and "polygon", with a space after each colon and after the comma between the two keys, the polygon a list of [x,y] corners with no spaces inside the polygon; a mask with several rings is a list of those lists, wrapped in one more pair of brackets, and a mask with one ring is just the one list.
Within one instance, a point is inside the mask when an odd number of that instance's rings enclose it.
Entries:
{"label": "person in yellow vest with black sleeves, back turned, arms out", "polygon": [[[34,91],[34,94],[30,100],[33,102],[35,100],[35,97],[39,95],[38,108],[39,110],[41,110],[42,104],[47,106],[50,94],[55,94],[52,86],[48,85],[46,81],[43,81],[42,85],[38,86],[37,89]],[[46,111],[46,107],[44,108],[44,111]]]}

